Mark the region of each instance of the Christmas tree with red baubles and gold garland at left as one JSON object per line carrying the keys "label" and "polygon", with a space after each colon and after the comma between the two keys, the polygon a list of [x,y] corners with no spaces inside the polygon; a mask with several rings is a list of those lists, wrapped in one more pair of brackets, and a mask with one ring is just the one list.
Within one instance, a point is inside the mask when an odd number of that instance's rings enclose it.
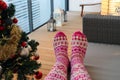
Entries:
{"label": "Christmas tree with red baubles and gold garland at left", "polygon": [[39,43],[19,28],[14,15],[15,6],[0,0],[0,80],[12,80],[15,73],[17,80],[26,80],[26,75],[40,79]]}

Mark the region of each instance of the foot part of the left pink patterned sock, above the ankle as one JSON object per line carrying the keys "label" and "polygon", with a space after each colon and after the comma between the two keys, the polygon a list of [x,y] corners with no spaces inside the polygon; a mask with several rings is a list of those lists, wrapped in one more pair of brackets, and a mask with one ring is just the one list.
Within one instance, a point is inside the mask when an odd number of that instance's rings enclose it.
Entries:
{"label": "foot part of the left pink patterned sock, above the ankle", "polygon": [[58,32],[55,35],[53,46],[56,57],[64,56],[68,59],[68,41],[66,35],[63,32]]}

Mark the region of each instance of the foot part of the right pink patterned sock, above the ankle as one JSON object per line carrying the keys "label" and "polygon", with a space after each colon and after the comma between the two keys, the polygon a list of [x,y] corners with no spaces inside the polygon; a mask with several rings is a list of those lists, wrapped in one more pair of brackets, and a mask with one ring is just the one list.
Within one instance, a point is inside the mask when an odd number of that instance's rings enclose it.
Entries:
{"label": "foot part of the right pink patterned sock, above the ankle", "polygon": [[87,38],[82,32],[76,31],[75,33],[73,33],[71,45],[72,55],[80,55],[82,57],[85,57]]}

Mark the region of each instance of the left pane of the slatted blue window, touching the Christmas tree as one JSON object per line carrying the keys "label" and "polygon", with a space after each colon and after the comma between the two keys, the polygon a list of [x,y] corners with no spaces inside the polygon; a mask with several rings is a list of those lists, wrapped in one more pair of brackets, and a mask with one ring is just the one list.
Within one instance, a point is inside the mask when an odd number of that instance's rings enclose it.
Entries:
{"label": "left pane of the slatted blue window, touching the Christmas tree", "polygon": [[8,3],[13,3],[16,8],[15,17],[18,19],[18,25],[25,32],[29,32],[29,16],[27,0],[6,0]]}

